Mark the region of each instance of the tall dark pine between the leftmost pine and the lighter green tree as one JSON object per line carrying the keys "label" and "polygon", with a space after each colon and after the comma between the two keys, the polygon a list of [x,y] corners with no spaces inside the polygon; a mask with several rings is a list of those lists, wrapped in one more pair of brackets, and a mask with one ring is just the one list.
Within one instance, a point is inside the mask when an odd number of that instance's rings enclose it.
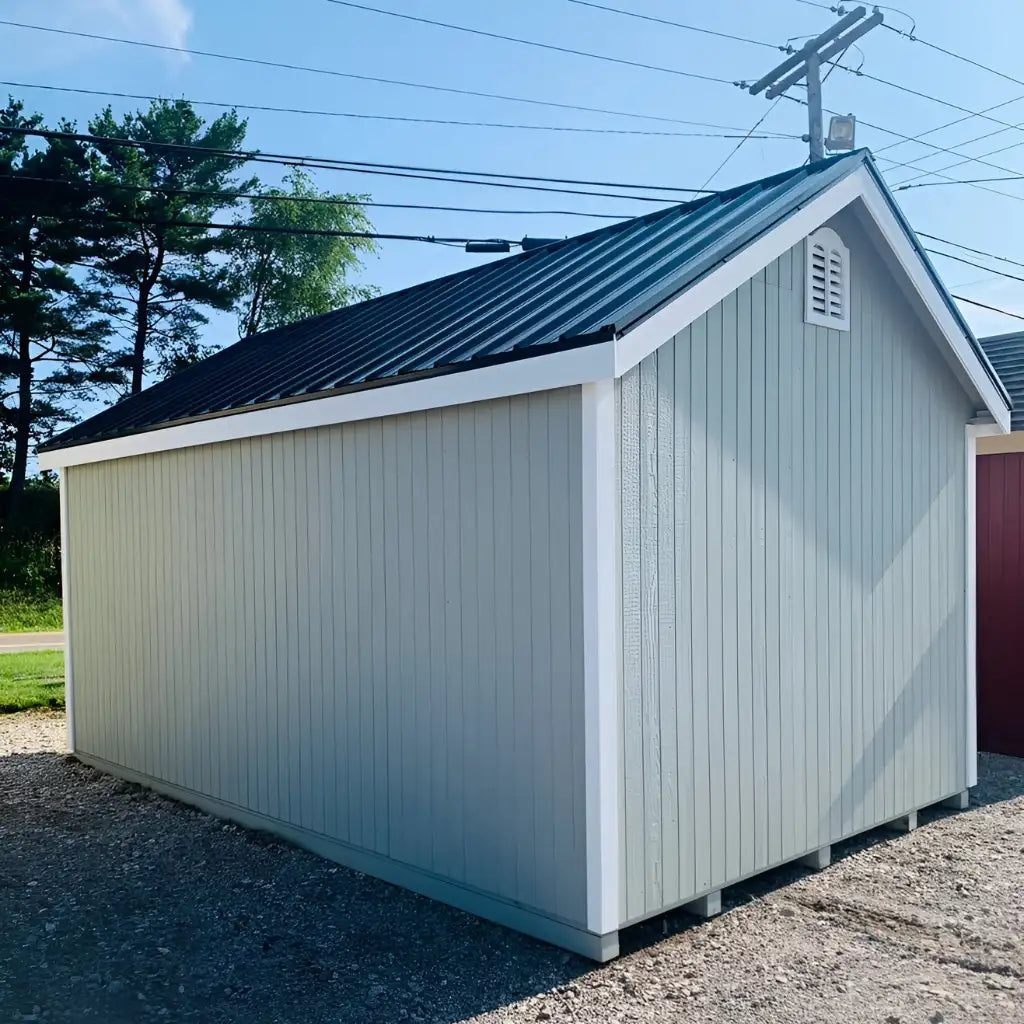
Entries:
{"label": "tall dark pine between the leftmost pine and the lighter green tree", "polygon": [[[208,228],[181,223],[209,221],[237,204],[231,191],[255,187],[256,180],[234,177],[241,162],[230,154],[245,140],[246,122],[233,111],[208,125],[187,100],[161,99],[120,120],[108,108],[89,130],[143,143],[97,139],[92,179],[108,218],[96,278],[120,307],[122,346],[110,353],[108,366],[121,392],[135,393],[147,370],[167,375],[212,351],[200,340],[207,324],[203,308],[230,309],[234,298],[218,259],[226,243]],[[147,186],[209,195],[168,195]]]}

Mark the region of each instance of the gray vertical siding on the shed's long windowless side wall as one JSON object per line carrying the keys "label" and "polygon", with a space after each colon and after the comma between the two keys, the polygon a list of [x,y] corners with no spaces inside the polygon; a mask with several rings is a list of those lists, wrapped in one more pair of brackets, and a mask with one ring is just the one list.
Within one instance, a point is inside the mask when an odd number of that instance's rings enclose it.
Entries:
{"label": "gray vertical siding on the shed's long windowless side wall", "polygon": [[583,925],[580,416],[71,469],[79,749]]}

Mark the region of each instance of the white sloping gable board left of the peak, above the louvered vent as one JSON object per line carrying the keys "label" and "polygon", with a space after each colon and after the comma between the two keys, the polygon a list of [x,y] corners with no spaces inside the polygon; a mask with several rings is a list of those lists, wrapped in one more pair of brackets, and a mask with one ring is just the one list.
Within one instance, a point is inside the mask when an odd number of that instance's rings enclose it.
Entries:
{"label": "white sloping gable board left of the peak, above the louvered vent", "polygon": [[803,242],[829,217],[845,209],[863,189],[859,172],[840,179],[745,249],[726,260],[678,298],[663,306],[618,339],[615,376],[632,370],[656,348],[721,302],[772,260]]}

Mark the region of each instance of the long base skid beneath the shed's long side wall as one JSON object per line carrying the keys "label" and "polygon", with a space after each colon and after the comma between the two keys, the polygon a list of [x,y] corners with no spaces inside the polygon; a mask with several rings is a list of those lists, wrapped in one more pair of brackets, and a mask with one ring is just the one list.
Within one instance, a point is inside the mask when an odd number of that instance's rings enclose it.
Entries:
{"label": "long base skid beneath the shed's long side wall", "polygon": [[365,874],[372,874],[374,878],[389,882],[402,889],[410,889],[430,899],[447,903],[460,910],[476,914],[478,918],[484,918],[517,932],[522,932],[524,935],[549,942],[553,946],[580,953],[589,959],[603,964],[618,955],[617,931],[609,932],[606,935],[597,935],[567,922],[545,916],[537,910],[509,903],[479,890],[432,874],[411,864],[390,860],[378,853],[348,846],[346,843],[323,836],[319,833],[310,831],[308,828],[286,824],[284,821],[267,817],[257,811],[250,811],[226,801],[207,797],[185,786],[164,782],[91,754],[75,751],[75,757],[83,764],[91,765],[99,771],[123,778],[128,782],[136,782],[138,785],[153,790],[162,796],[198,807],[201,811],[212,814],[214,817],[226,818],[257,831],[271,833],[327,860],[333,860],[345,867],[362,871]]}

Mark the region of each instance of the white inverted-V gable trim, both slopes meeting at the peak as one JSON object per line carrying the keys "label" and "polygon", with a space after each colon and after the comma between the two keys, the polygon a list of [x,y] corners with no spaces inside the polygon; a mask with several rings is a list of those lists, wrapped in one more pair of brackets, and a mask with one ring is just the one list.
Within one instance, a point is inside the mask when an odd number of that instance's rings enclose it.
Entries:
{"label": "white inverted-V gable trim, both slopes meeting at the peak", "polygon": [[970,340],[936,286],[918,250],[906,236],[878,182],[860,167],[830,188],[812,199],[745,249],[730,257],[718,269],[688,288],[682,295],[652,313],[616,342],[615,376],[632,370],[698,316],[708,312],[772,260],[820,227],[829,217],[860,200],[921,298],[955,360],[999,427],[1010,430],[1010,407],[989,377]]}

